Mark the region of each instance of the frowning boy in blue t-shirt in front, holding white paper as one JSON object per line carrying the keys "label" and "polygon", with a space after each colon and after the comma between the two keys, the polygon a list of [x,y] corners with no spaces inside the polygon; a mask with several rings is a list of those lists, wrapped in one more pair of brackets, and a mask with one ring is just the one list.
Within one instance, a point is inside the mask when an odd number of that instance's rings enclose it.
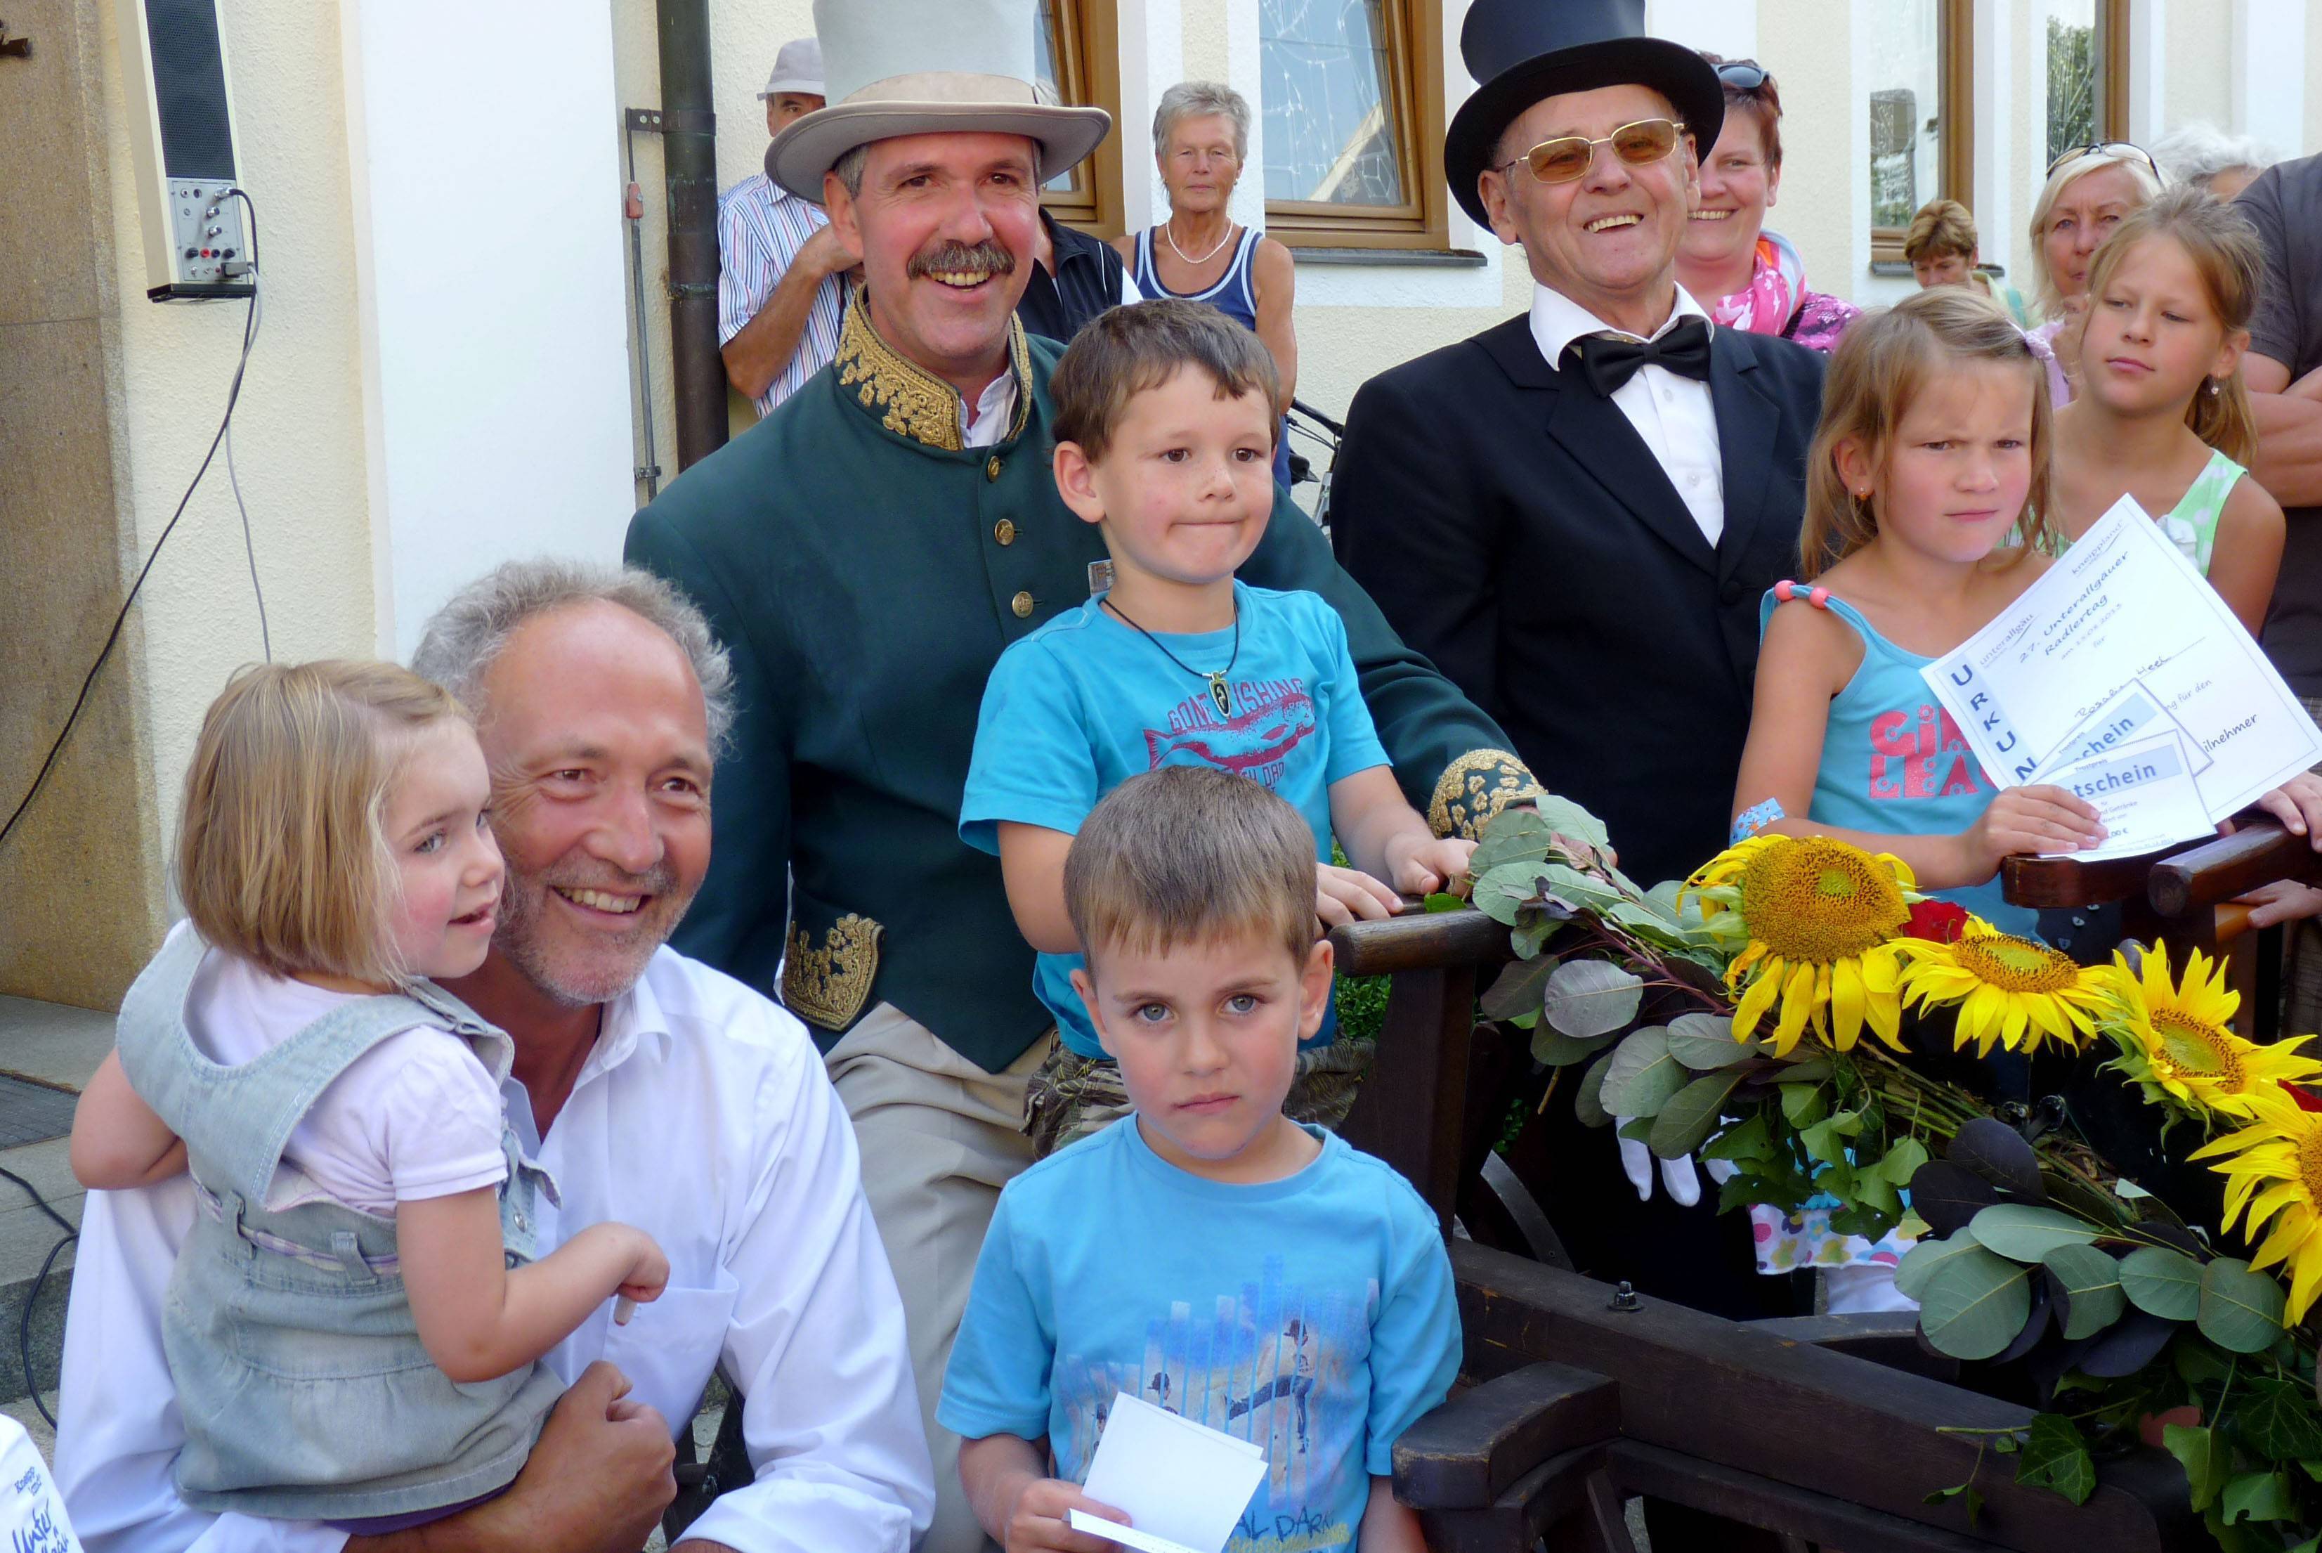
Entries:
{"label": "frowning boy in blue t-shirt in front, holding white paper", "polygon": [[1423,1553],[1396,1439],[1458,1372],[1435,1214],[1384,1161],[1282,1114],[1321,1026],[1312,836],[1212,768],[1117,787],[1063,871],[1073,970],[1135,1112],[1001,1191],[936,1421],[1008,1553],[1087,1548],[1077,1490],[1119,1393],[1247,1439],[1228,1553]]}

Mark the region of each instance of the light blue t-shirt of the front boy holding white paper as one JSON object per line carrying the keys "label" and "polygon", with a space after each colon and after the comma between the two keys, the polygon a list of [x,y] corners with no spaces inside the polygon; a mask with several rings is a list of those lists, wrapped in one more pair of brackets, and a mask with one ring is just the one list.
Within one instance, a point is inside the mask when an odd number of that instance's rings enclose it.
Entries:
{"label": "light blue t-shirt of the front boy holding white paper", "polygon": [[1451,1391],[1458,1302],[1412,1184],[1307,1131],[1321,1154],[1279,1182],[1177,1170],[1135,1117],[1008,1182],[936,1421],[1045,1435],[1080,1483],[1126,1391],[1265,1451],[1226,1553],[1354,1548],[1370,1479]]}

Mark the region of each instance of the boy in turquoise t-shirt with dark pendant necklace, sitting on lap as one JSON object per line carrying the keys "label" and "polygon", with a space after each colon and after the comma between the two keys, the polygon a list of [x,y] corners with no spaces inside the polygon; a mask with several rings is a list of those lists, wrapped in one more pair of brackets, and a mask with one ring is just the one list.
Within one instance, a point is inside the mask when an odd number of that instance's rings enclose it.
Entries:
{"label": "boy in turquoise t-shirt with dark pendant necklace, sitting on lap", "polygon": [[[1275,501],[1279,381],[1259,337],[1196,302],[1112,309],[1073,339],[1050,392],[1057,487],[1103,527],[1112,585],[1001,655],[959,815],[961,838],[1001,859],[1063,1038],[1031,1082],[1043,1154],[1126,1110],[1073,994],[1080,938],[1063,912],[1073,831],[1124,780],[1217,766],[1286,799],[1314,833],[1324,922],[1389,917],[1398,889],[1442,889],[1474,852],[1402,799],[1337,611],[1233,580]],[[1333,829],[1354,868],[1331,866]],[[1344,1066],[1333,1035],[1335,1021],[1314,1031],[1303,1077],[1317,1082],[1293,1091],[1293,1117],[1335,1124],[1354,1098],[1328,1082]]]}

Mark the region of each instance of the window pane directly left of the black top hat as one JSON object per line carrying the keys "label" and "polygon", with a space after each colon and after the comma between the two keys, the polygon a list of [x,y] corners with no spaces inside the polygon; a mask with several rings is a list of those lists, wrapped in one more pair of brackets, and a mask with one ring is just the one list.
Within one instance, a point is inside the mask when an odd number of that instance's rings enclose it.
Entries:
{"label": "window pane directly left of the black top hat", "polygon": [[1265,197],[1405,204],[1386,0],[1259,0]]}

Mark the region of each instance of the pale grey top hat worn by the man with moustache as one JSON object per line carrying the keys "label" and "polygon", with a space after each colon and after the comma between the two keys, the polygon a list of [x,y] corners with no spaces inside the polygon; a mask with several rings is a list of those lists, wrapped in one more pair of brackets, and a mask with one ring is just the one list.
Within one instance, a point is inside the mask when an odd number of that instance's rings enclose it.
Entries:
{"label": "pale grey top hat worn by the man with moustache", "polygon": [[815,0],[829,107],[766,146],[766,174],[822,202],[822,174],[854,146],[896,135],[1024,135],[1040,181],[1096,151],[1101,107],[1045,107],[1033,93],[1036,0]]}

